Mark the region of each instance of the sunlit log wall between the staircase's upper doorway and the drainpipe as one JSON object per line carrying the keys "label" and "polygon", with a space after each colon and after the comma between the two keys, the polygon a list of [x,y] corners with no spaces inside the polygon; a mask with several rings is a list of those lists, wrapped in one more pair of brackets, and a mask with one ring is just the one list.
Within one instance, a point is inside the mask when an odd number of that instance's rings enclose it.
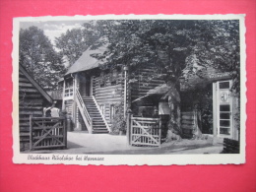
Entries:
{"label": "sunlit log wall between the staircase's upper doorway and the drainpipe", "polygon": [[[123,73],[118,73],[118,81],[112,86],[108,78],[106,78],[105,86],[100,88],[99,78],[93,79],[93,96],[96,97],[96,102],[100,106],[104,104],[104,117],[109,127],[111,127],[110,105],[118,104],[124,99],[124,77]],[[122,111],[123,112],[123,111]]]}

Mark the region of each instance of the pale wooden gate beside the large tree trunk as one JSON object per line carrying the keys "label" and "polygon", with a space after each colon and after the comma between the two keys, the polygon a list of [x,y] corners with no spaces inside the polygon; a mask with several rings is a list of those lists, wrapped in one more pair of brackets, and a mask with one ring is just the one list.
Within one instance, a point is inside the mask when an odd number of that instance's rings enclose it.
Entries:
{"label": "pale wooden gate beside the large tree trunk", "polygon": [[160,119],[131,116],[130,144],[160,147]]}

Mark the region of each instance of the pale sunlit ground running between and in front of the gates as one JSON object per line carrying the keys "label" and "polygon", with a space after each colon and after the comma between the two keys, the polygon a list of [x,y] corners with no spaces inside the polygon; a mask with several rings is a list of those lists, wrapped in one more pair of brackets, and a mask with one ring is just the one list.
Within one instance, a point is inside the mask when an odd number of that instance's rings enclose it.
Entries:
{"label": "pale sunlit ground running between and in front of the gates", "polygon": [[33,151],[30,153],[111,155],[220,154],[222,150],[223,145],[213,146],[211,139],[173,141],[162,144],[160,148],[143,148],[129,146],[126,136],[68,132],[67,149]]}

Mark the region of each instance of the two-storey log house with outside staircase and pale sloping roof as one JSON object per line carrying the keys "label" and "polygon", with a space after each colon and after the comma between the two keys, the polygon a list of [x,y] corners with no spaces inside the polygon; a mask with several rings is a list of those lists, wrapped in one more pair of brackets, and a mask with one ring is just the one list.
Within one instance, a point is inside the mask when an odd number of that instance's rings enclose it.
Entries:
{"label": "two-storey log house with outside staircase and pale sloping roof", "polygon": [[93,54],[102,53],[105,47],[87,49],[69,68],[64,76],[63,109],[71,118],[74,130],[89,133],[109,133],[116,115],[116,107],[122,118],[131,108],[135,116],[152,116],[156,105],[151,99],[139,99],[164,82],[146,80],[153,66],[141,66],[135,74],[137,81],[129,83],[128,67],[102,70]]}

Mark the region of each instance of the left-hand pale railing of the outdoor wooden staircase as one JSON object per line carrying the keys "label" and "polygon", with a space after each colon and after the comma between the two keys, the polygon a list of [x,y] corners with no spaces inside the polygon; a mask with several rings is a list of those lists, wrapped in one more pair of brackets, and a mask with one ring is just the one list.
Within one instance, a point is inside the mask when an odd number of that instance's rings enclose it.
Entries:
{"label": "left-hand pale railing of the outdoor wooden staircase", "polygon": [[87,128],[88,128],[89,133],[93,133],[93,118],[90,116],[90,114],[87,110],[87,107],[84,103],[84,100],[78,90],[76,90],[76,93],[75,93],[75,100],[78,104],[78,108],[81,112],[81,115],[83,117],[83,120],[84,120]]}

